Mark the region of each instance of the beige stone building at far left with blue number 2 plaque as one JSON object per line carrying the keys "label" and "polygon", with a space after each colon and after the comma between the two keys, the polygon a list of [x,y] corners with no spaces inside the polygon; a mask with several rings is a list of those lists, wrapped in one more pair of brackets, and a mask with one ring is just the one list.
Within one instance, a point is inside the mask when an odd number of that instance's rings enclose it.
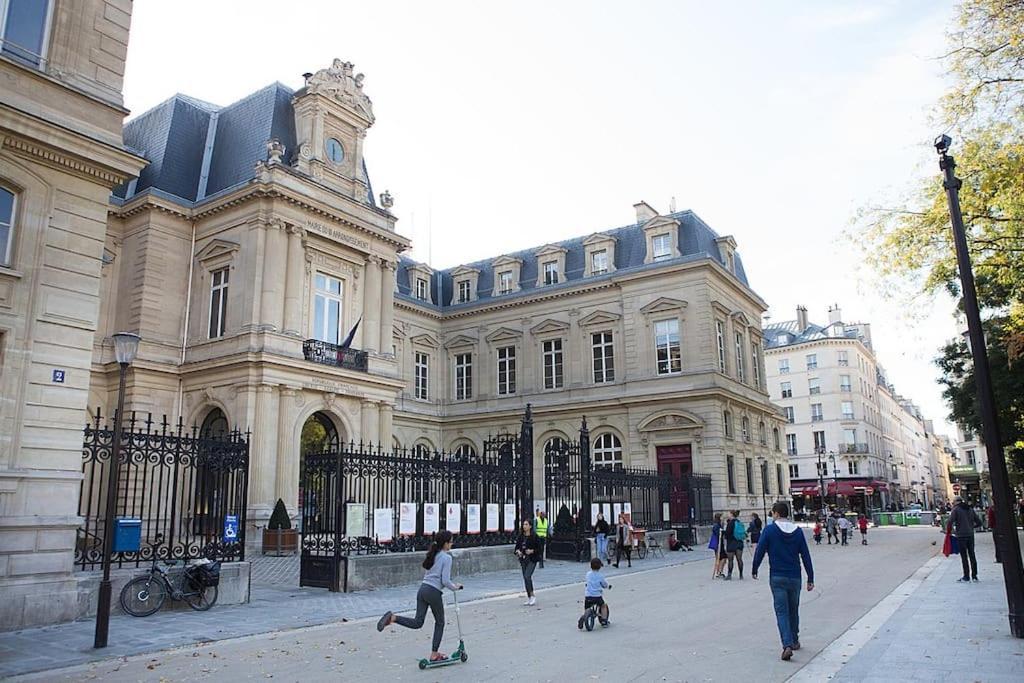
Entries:
{"label": "beige stone building at far left with blue number 2 plaque", "polygon": [[0,2],[0,628],[80,613],[82,425],[129,0]]}

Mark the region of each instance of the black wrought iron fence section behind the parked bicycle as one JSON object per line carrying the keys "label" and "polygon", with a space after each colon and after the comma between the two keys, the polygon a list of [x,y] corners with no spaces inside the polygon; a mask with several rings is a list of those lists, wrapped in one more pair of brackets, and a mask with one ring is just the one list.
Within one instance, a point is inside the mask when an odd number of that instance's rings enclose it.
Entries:
{"label": "black wrought iron fence section behind the parked bicycle", "polygon": [[[82,444],[82,485],[75,566],[95,569],[102,562],[106,520],[109,470],[115,432],[100,412],[85,427]],[[158,533],[164,537],[160,557],[221,560],[245,558],[246,494],[249,477],[249,434],[201,433],[181,419],[160,423],[133,412],[122,426],[116,517],[141,520],[142,546],[138,552],[114,554],[114,566],[139,566],[153,559],[146,545]],[[239,538],[224,543],[224,518],[239,519]]]}

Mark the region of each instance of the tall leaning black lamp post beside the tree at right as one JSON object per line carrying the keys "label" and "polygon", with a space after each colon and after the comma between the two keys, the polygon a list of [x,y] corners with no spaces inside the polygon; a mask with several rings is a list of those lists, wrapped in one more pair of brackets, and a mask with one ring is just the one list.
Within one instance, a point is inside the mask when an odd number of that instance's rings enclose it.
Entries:
{"label": "tall leaning black lamp post beside the tree at right", "polygon": [[953,243],[956,247],[956,264],[959,267],[961,289],[964,295],[964,314],[967,316],[967,328],[971,338],[978,408],[981,413],[985,450],[988,452],[988,471],[995,505],[994,541],[1002,559],[1002,580],[1007,587],[1007,604],[1010,608],[1010,631],[1017,638],[1024,638],[1024,566],[1021,563],[1020,539],[1017,538],[1016,517],[1007,474],[1007,461],[1002,455],[999,424],[995,419],[995,400],[992,396],[985,335],[981,328],[978,293],[974,286],[967,232],[964,229],[964,217],[959,209],[961,180],[954,175],[956,164],[953,158],[946,154],[950,142],[952,140],[948,135],[939,135],[935,139],[935,151],[939,154],[939,168],[943,173],[942,186],[946,190],[946,200],[949,204]]}

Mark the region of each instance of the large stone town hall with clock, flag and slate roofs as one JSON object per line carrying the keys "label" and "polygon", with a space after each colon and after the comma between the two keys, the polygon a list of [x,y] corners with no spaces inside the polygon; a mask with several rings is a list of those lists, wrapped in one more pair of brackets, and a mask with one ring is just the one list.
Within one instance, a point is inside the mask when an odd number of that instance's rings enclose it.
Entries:
{"label": "large stone town hall with clock, flag and slate roofs", "polygon": [[597,463],[710,474],[716,509],[787,489],[766,305],[732,238],[640,203],[625,227],[443,271],[413,262],[367,174],[362,81],[336,60],[294,92],[176,95],[126,126],[150,165],[111,206],[91,404],[116,397],[104,340],[137,332],[131,409],[252,429],[255,526],[279,498],[297,511],[310,425],[470,453],[527,403],[537,492],[544,444],[585,415]]}

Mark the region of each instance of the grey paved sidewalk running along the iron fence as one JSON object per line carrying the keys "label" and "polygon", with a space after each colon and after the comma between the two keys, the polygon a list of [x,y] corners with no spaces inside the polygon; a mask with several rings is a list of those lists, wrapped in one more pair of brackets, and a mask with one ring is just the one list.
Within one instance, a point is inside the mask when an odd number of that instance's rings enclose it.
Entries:
{"label": "grey paved sidewalk running along the iron fence", "polygon": [[[611,578],[636,573],[711,557],[711,551],[705,549],[666,552],[664,558],[648,556],[634,561],[632,569],[623,565],[621,569],[607,569],[607,574]],[[298,588],[297,577],[294,578],[295,583],[291,582],[294,560],[266,559],[273,561],[261,559],[259,579],[253,578],[249,604],[217,606],[208,612],[190,609],[167,611],[165,608],[153,616],[141,618],[116,615],[111,618],[110,646],[102,650],[92,647],[93,620],[0,633],[0,678],[196,643],[375,616],[387,609],[406,611],[416,607],[418,584],[359,593]],[[538,569],[534,574],[534,583],[539,589],[582,584],[586,569],[584,563],[548,560],[545,568]],[[272,581],[274,574],[289,577],[291,585],[264,583]],[[461,594],[465,602],[523,591],[522,577],[517,569],[471,577],[457,574],[457,579],[466,585]]]}

